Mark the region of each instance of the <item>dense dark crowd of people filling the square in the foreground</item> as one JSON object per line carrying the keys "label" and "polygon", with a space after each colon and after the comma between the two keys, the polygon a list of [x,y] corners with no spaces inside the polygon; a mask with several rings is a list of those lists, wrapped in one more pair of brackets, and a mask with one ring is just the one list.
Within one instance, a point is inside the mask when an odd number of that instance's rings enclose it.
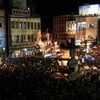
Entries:
{"label": "dense dark crowd of people filling the square in the foreground", "polygon": [[0,63],[0,100],[100,100],[99,69],[82,69],[74,81],[69,70],[57,59],[7,58]]}

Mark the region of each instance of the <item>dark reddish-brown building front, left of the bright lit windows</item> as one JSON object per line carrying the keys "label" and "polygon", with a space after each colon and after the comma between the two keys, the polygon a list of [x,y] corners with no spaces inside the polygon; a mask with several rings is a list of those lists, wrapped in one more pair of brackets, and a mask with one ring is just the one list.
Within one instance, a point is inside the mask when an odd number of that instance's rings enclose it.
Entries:
{"label": "dark reddish-brown building front, left of the bright lit windows", "polygon": [[[68,37],[68,24],[71,21],[74,22],[73,15],[59,15],[54,16],[53,18],[53,40],[56,40],[58,44],[61,42],[66,42],[66,39]],[[69,30],[70,31],[70,30]],[[70,31],[70,34],[72,32]]]}

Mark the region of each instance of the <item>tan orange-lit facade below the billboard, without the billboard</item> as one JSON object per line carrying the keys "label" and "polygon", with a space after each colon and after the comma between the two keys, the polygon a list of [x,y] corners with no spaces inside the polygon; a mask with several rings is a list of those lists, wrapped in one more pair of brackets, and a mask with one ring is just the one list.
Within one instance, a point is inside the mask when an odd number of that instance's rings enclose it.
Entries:
{"label": "tan orange-lit facade below the billboard, without the billboard", "polygon": [[91,41],[98,36],[99,16],[76,17],[76,40]]}

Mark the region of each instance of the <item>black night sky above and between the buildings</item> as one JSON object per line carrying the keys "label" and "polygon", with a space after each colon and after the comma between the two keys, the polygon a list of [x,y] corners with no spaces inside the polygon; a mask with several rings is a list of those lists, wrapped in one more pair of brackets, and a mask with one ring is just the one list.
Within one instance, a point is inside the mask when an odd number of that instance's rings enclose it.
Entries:
{"label": "black night sky above and between the buildings", "polygon": [[[36,6],[36,13],[41,16],[42,31],[50,28],[52,31],[53,16],[74,12],[84,3],[98,3],[97,0],[32,0]],[[100,2],[99,2],[100,3]]]}

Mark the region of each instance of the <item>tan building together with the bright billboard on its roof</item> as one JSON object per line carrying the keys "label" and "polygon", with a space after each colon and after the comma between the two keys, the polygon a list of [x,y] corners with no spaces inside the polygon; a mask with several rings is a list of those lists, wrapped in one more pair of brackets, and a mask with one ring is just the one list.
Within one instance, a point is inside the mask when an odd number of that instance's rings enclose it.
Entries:
{"label": "tan building together with the bright billboard on its roof", "polygon": [[100,4],[79,6],[79,16],[76,17],[76,40],[92,42],[100,36]]}

